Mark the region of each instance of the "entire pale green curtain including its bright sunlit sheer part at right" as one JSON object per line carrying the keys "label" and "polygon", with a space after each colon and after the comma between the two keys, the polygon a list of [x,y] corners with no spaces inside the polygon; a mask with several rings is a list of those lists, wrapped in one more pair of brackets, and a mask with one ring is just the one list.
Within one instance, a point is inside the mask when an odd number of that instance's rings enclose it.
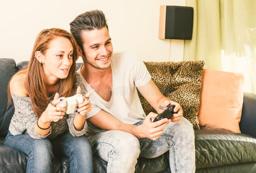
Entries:
{"label": "entire pale green curtain including its bright sunlit sheer part at right", "polygon": [[244,91],[256,93],[256,0],[186,0],[194,8],[192,40],[184,60],[244,74]]}

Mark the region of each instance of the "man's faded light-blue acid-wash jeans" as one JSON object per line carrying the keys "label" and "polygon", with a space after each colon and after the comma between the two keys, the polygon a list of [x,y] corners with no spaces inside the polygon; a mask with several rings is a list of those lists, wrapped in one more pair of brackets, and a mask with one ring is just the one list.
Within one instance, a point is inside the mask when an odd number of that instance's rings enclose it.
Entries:
{"label": "man's faded light-blue acid-wash jeans", "polygon": [[[140,125],[140,121],[134,125]],[[108,173],[134,172],[137,158],[156,158],[170,151],[172,173],[195,172],[195,136],[192,124],[184,117],[178,123],[169,123],[156,140],[108,130],[90,138],[92,152],[108,162]]]}

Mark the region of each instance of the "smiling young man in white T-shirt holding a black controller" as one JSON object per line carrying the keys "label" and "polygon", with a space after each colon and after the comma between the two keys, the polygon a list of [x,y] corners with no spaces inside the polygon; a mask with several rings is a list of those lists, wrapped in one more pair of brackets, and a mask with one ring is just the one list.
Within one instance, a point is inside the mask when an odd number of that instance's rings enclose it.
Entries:
{"label": "smiling young man in white T-shirt holding a black controller", "polygon": [[[108,162],[107,172],[134,172],[137,158],[155,158],[170,151],[172,173],[195,172],[194,130],[182,108],[158,90],[144,63],[129,53],[113,54],[103,12],[85,12],[70,23],[83,66],[78,73],[86,93],[94,89],[86,115],[92,152]],[[136,88],[156,109],[175,105],[171,120],[151,122]]]}

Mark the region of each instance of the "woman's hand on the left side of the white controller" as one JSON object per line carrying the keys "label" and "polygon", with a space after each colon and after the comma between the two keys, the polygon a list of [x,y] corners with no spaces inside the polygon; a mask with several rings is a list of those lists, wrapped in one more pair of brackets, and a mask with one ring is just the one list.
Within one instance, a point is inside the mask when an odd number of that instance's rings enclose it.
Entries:
{"label": "woman's hand on the left side of the white controller", "polygon": [[46,123],[46,122],[52,122],[56,120],[58,121],[63,118],[63,115],[65,115],[66,108],[55,106],[61,102],[59,97],[60,97],[59,93],[56,93],[54,96],[54,99],[51,102],[52,104],[51,103],[48,104],[45,111],[40,117],[42,122]]}

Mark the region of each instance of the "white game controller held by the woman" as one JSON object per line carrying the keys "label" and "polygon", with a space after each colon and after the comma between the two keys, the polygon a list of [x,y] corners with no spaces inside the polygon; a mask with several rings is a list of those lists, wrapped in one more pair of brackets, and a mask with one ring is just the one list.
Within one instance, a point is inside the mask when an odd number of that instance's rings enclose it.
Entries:
{"label": "white game controller held by the woman", "polygon": [[[76,106],[84,102],[84,98],[82,94],[76,94],[72,97],[68,97],[68,98],[64,97],[62,99],[63,100],[56,106],[65,107],[66,114],[72,114],[76,110]],[[54,122],[57,122],[57,121],[58,120],[54,120]]]}

